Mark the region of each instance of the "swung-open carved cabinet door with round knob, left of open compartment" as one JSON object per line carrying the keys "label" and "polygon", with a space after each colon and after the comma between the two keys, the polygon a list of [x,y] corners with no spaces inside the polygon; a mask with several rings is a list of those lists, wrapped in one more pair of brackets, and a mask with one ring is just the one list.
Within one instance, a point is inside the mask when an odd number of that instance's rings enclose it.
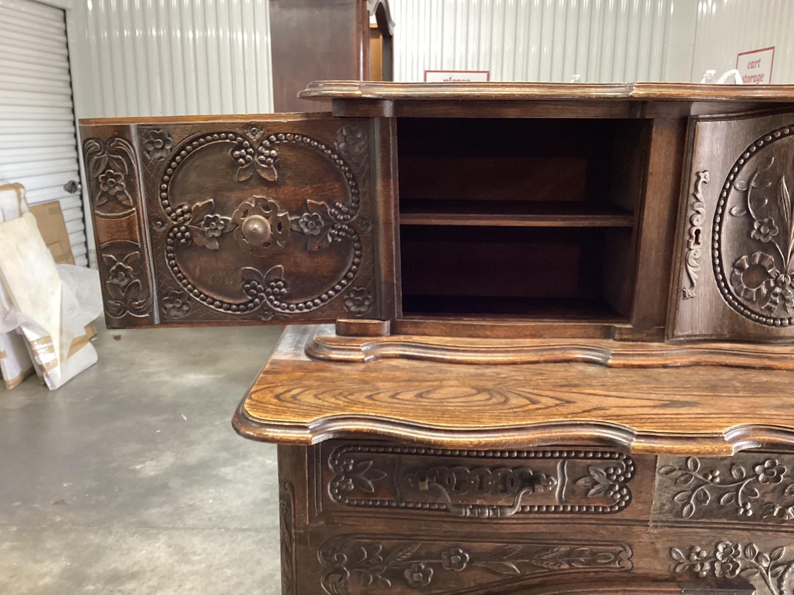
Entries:
{"label": "swung-open carved cabinet door with round knob, left of open compartment", "polygon": [[380,318],[372,121],[81,122],[108,326]]}

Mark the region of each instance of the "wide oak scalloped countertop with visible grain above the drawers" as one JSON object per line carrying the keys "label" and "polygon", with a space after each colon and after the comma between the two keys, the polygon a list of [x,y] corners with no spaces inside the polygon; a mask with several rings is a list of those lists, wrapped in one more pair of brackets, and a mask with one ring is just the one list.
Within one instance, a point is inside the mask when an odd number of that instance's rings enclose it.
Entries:
{"label": "wide oak scalloped countertop with visible grain above the drawers", "polygon": [[703,456],[794,447],[794,371],[334,363],[306,356],[317,329],[284,332],[237,411],[242,436],[304,445],[334,437],[468,448],[588,444]]}

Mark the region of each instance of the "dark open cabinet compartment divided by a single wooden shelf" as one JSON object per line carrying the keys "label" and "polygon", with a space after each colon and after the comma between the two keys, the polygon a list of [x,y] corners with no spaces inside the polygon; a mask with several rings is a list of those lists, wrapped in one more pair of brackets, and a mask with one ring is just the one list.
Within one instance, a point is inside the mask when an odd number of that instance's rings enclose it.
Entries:
{"label": "dark open cabinet compartment divided by a single wooden shelf", "polygon": [[646,130],[400,119],[403,316],[628,321]]}

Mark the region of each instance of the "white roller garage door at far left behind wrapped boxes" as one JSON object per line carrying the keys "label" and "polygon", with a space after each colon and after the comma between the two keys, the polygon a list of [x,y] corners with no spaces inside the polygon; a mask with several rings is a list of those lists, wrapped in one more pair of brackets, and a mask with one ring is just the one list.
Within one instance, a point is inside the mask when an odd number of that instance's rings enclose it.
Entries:
{"label": "white roller garage door at far left behind wrapped boxes", "polygon": [[21,182],[31,204],[60,201],[75,262],[87,264],[64,11],[0,0],[0,180]]}

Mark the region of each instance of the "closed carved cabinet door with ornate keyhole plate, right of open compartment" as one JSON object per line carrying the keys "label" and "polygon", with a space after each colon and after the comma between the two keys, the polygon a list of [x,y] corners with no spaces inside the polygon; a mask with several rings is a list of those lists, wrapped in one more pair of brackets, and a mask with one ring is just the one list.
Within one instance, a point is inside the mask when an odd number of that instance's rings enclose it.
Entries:
{"label": "closed carved cabinet door with ornate keyhole plate, right of open compartment", "polygon": [[794,340],[794,113],[694,119],[670,336]]}

